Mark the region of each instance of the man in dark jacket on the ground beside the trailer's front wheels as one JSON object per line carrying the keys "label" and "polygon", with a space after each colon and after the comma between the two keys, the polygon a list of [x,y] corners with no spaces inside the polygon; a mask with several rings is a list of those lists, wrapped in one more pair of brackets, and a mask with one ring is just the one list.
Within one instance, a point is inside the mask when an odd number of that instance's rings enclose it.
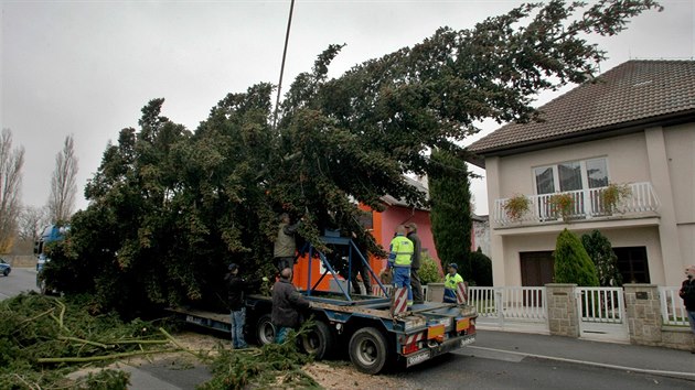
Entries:
{"label": "man in dark jacket on the ground beside the trailer's front wheels", "polygon": [[285,342],[290,329],[299,327],[299,311],[311,307],[311,302],[307,301],[290,282],[292,270],[286,268],[280,271],[280,279],[272,286],[272,312],[271,321],[276,329],[275,342]]}

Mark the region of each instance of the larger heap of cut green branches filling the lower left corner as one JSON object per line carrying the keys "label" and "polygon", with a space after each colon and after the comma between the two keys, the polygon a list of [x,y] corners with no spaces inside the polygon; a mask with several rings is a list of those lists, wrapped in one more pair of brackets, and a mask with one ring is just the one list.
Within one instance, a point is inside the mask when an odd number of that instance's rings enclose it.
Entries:
{"label": "larger heap of cut green branches filling the lower left corner", "polygon": [[103,370],[77,381],[65,375],[85,365],[179,349],[163,328],[97,314],[88,297],[21,294],[0,302],[0,389],[125,389],[122,371]]}

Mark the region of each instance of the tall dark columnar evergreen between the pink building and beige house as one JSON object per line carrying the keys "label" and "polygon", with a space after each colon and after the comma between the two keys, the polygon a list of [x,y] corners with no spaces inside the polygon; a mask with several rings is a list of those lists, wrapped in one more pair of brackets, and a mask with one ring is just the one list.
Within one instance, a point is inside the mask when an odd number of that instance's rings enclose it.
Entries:
{"label": "tall dark columnar evergreen between the pink building and beige house", "polygon": [[446,270],[452,262],[459,266],[464,280],[472,278],[471,193],[466,161],[442,150],[431,153],[429,178],[430,219],[437,254]]}

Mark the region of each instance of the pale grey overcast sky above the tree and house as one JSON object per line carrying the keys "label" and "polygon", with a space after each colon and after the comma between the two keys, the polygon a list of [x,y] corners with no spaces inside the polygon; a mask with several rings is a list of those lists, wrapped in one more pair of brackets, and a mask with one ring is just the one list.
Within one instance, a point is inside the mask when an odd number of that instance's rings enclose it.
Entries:
{"label": "pale grey overcast sky above the tree and house", "polygon": [[[297,0],[284,90],[329,44],[348,44],[331,67],[339,76],[354,64],[418,43],[439,26],[469,29],[520,3]],[[693,58],[694,1],[661,3],[663,12],[642,14],[620,35],[595,40],[610,57],[602,72],[630,58]],[[226,94],[259,82],[277,84],[289,4],[2,0],[0,116],[14,147],[25,149],[24,205],[46,204],[55,154],[71,133],[79,159],[76,206],[86,208],[84,185],[107,142],[122,128],[137,128],[150,99],[165,98],[163,115],[194,130]],[[496,127],[485,123],[485,133]],[[472,191],[475,212],[488,214],[484,178],[474,180]]]}

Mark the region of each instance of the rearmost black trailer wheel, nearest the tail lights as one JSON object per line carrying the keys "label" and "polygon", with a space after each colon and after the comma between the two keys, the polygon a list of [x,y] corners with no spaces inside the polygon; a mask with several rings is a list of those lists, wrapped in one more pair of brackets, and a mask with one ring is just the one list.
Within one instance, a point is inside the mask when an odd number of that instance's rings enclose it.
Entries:
{"label": "rearmost black trailer wheel, nearest the tail lights", "polygon": [[385,367],[389,358],[388,342],[386,337],[373,327],[365,327],[350,338],[350,360],[364,373],[378,373]]}

